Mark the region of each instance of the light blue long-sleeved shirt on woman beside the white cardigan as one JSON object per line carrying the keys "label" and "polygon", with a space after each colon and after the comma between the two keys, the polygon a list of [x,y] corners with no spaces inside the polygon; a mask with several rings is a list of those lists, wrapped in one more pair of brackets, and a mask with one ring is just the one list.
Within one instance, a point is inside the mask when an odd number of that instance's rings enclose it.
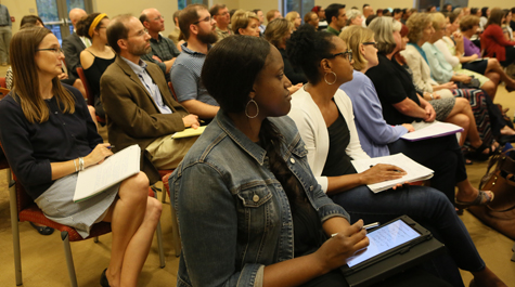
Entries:
{"label": "light blue long-sleeved shirt on woman beside the white cardigan", "polygon": [[355,70],[353,79],[339,87],[350,97],[361,148],[370,157],[390,155],[389,143],[408,133],[402,126],[390,126],[383,118],[383,106],[374,83],[363,73]]}

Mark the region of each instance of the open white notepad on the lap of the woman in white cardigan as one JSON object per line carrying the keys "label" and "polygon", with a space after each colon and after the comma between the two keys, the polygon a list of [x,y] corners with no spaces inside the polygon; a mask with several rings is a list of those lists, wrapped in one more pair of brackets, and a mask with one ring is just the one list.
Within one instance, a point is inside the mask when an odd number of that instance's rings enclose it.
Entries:
{"label": "open white notepad on the lap of the woman in white cardigan", "polygon": [[404,182],[415,182],[415,181],[424,181],[433,178],[434,171],[428,169],[419,162],[414,161],[413,159],[407,157],[404,154],[399,153],[396,155],[390,156],[382,156],[382,157],[374,157],[368,159],[357,159],[352,160],[352,166],[355,166],[356,171],[363,172],[371,168],[371,166],[375,166],[377,164],[387,164],[394,165],[403,169],[408,174],[404,177],[391,180],[391,181],[384,181],[378,183],[369,184],[369,188],[374,193],[379,193],[396,186],[397,184],[402,184]]}

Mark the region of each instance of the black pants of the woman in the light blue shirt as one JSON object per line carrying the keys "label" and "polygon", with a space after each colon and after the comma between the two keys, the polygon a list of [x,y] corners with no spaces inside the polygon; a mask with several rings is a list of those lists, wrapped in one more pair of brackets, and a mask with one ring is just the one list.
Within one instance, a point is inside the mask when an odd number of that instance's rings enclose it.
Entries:
{"label": "black pants of the woman in the light blue shirt", "polygon": [[417,142],[399,139],[388,144],[388,148],[391,155],[402,153],[433,169],[430,186],[454,203],[455,184],[467,179],[465,159],[454,134]]}

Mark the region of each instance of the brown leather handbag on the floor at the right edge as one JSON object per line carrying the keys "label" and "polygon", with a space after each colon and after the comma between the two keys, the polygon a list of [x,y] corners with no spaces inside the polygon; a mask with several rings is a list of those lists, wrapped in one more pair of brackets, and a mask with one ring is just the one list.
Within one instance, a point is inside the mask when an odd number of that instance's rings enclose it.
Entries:
{"label": "brown leather handbag on the floor at the right edge", "polygon": [[[493,200],[487,206],[473,206],[468,211],[488,226],[515,239],[515,148],[490,158],[479,188],[491,191]],[[492,167],[494,167],[493,171]]]}

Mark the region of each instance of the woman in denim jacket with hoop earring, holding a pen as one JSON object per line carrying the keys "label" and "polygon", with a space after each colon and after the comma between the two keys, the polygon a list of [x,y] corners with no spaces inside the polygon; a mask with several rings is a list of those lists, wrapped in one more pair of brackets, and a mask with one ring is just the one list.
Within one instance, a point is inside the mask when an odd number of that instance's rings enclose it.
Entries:
{"label": "woman in denim jacket with hoop earring, holding a pen", "polygon": [[279,51],[229,37],[202,79],[221,109],[169,180],[182,240],[177,285],[298,286],[329,274],[342,286],[337,268],[369,242],[363,222],[350,225],[322,192],[282,117],[292,84]]}

